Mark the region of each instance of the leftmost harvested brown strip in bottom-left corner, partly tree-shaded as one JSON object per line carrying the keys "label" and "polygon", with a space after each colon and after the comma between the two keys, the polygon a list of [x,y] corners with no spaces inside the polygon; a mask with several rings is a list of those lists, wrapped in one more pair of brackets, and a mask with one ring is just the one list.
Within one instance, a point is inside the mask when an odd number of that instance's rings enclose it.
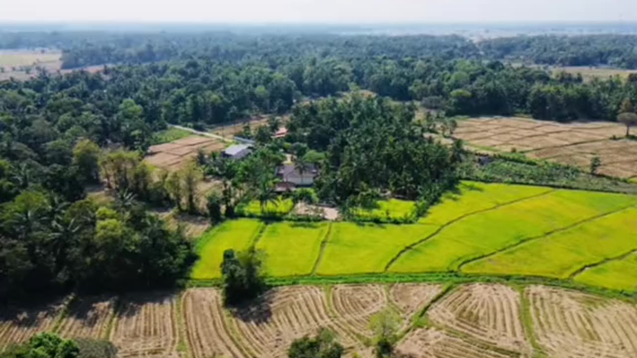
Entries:
{"label": "leftmost harvested brown strip in bottom-left corner, partly tree-shaded", "polygon": [[12,344],[29,340],[34,334],[54,329],[65,304],[58,302],[29,310],[10,308],[0,312],[0,352]]}

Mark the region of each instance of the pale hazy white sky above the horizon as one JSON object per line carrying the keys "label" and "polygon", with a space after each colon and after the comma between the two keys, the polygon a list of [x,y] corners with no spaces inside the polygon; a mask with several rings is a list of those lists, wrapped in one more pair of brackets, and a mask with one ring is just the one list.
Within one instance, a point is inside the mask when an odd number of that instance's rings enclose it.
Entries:
{"label": "pale hazy white sky above the horizon", "polygon": [[0,0],[0,21],[637,21],[637,0]]}

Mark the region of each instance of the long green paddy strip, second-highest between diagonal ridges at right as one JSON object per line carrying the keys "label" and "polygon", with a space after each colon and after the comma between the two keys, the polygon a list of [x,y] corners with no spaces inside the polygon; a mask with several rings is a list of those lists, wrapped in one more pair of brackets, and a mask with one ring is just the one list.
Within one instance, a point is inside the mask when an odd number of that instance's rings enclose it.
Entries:
{"label": "long green paddy strip, second-highest between diagonal ridges at right", "polygon": [[[618,210],[631,196],[556,190],[464,217],[408,250],[391,272],[454,271],[462,262]],[[623,202],[622,202],[623,201]]]}

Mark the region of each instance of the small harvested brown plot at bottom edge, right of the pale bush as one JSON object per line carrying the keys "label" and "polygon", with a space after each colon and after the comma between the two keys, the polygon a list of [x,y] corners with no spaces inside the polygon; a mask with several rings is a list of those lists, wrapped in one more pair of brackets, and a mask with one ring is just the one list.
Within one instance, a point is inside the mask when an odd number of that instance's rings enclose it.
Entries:
{"label": "small harvested brown plot at bottom edge, right of the pale bush", "polygon": [[489,345],[469,341],[434,328],[420,328],[397,346],[397,357],[404,358],[512,358],[526,357],[498,352]]}

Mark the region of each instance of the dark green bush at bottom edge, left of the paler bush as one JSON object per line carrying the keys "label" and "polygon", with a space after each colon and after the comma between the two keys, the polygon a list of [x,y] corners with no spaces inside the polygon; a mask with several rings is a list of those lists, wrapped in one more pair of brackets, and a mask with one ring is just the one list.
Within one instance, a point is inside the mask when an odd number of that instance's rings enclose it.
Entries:
{"label": "dark green bush at bottom edge, left of the paler bush", "polygon": [[292,342],[287,350],[289,358],[340,358],[345,348],[336,341],[328,329],[322,329],[316,337],[304,336]]}

